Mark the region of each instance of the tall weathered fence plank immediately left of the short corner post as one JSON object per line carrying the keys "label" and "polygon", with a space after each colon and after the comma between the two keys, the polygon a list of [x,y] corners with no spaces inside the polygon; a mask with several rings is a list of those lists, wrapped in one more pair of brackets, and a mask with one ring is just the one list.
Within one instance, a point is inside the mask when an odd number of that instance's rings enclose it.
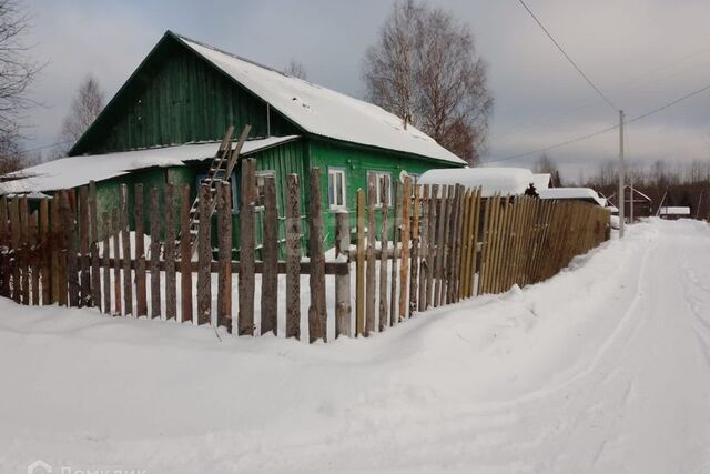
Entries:
{"label": "tall weathered fence plank immediately left of the short corner post", "polygon": [[325,251],[323,249],[323,203],[321,200],[321,170],[311,169],[310,186],[310,254],[311,306],[308,307],[308,339],[327,342],[327,307],[325,305]]}

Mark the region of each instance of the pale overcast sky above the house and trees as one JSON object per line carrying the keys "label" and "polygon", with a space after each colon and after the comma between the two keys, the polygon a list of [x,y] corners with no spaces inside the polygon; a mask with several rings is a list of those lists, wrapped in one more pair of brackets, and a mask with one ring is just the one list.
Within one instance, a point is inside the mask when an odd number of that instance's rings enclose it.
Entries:
{"label": "pale overcast sky above the house and trees", "polygon": [[[589,88],[517,0],[429,1],[466,21],[488,63],[495,98],[484,161],[541,149],[613,125],[618,115]],[[283,68],[301,61],[313,82],[362,98],[361,61],[390,2],[381,0],[36,0],[32,54],[49,61],[34,87],[44,107],[29,117],[28,148],[57,141],[78,83],[94,74],[115,93],[171,29]],[[708,0],[528,0],[596,84],[639,115],[710,84]],[[629,127],[630,155],[710,159],[710,91]],[[570,179],[618,153],[609,132],[548,154]],[[507,160],[495,164],[531,164]]]}

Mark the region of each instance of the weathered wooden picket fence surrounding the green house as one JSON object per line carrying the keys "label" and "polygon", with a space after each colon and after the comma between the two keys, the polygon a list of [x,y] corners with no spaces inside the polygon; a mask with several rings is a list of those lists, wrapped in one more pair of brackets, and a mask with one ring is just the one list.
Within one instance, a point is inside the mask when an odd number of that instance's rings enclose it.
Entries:
{"label": "weathered wooden picket fence surrounding the green house", "polygon": [[[286,180],[283,260],[278,260],[276,238],[282,216],[276,211],[275,181],[265,178],[264,244],[256,260],[254,172],[254,161],[245,160],[239,249],[232,245],[231,186],[222,183],[214,193],[201,186],[200,215],[206,215],[216,200],[216,220],[200,223],[194,255],[190,239],[180,239],[181,230],[190,232],[187,186],[168,185],[162,202],[180,205],[161,209],[158,190],[152,189],[149,202],[143,203],[138,184],[133,233],[129,232],[125,185],[120,206],[101,215],[93,183],[77,193],[57,192],[53,199],[39,201],[33,212],[27,198],[2,196],[0,295],[21,304],[93,306],[112,315],[211,324],[239,335],[255,335],[258,329],[261,334],[300,339],[307,331],[311,342],[327,341],[326,276],[334,280],[331,334],[366,336],[415,311],[545,280],[608,238],[607,211],[586,203],[500,195],[484,199],[480,190],[413,185],[408,178],[392,190],[384,182],[377,193],[371,180],[367,191],[357,193],[354,222],[347,211],[337,213],[335,259],[326,260],[320,171],[312,169],[305,183],[307,232],[301,229],[300,177],[292,174]],[[392,208],[387,205],[390,193]],[[180,209],[179,215],[174,209]],[[145,210],[150,216],[148,249]],[[211,241],[213,225],[216,249]],[[244,232],[246,229],[252,231]],[[302,256],[304,233],[308,235],[307,259]],[[164,235],[162,242],[160,235]],[[240,260],[233,260],[237,250]],[[233,274],[237,274],[236,293]],[[302,322],[301,285],[306,274],[310,297]],[[282,304],[285,327],[280,332]]]}

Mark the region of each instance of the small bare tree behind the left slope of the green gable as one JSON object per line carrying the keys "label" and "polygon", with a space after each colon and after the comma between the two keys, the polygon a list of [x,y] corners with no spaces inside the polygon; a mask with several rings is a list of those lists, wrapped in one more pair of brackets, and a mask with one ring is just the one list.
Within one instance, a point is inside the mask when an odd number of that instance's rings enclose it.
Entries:
{"label": "small bare tree behind the left slope of the green gable", "polygon": [[65,157],[72,145],[93,123],[103,109],[103,91],[93,75],[87,75],[71,103],[69,114],[62,121],[60,144],[54,158]]}

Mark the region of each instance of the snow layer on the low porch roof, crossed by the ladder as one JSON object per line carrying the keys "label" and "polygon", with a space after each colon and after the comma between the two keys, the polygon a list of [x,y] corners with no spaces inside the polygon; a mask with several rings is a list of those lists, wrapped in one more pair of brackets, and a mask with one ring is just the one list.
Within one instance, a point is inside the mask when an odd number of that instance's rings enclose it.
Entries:
{"label": "snow layer on the low porch roof, crossed by the ladder", "polygon": [[[254,153],[292,140],[297,135],[272,137],[250,140],[240,155]],[[0,183],[0,194],[57,191],[128,174],[131,171],[152,167],[184,167],[186,161],[206,160],[214,157],[220,143],[189,143],[176,147],[152,148],[105,154],[68,157],[37,167],[26,168],[8,174],[17,178]]]}

